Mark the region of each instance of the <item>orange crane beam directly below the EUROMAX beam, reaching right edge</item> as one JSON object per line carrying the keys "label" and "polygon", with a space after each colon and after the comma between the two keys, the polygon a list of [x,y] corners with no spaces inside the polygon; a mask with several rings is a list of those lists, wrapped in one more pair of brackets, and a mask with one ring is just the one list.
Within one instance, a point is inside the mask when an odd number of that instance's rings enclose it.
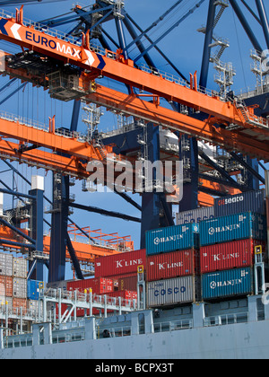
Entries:
{"label": "orange crane beam directly below the EUROMAX beam, reaching right edge", "polygon": [[85,99],[111,110],[146,119],[156,126],[161,125],[214,145],[221,145],[228,151],[247,153],[260,160],[269,161],[269,127],[260,128],[258,133],[254,126],[247,130],[239,127],[239,129],[230,131],[223,127],[216,127],[215,118],[208,118],[205,121],[191,118],[154,103],[143,101],[137,96],[117,92],[100,85],[97,85],[96,92],[88,94]]}

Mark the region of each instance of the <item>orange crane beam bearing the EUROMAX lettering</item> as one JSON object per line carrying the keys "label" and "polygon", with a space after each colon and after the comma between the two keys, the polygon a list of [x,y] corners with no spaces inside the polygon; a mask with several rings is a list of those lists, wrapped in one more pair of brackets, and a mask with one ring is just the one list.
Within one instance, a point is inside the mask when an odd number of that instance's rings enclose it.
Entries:
{"label": "orange crane beam bearing the EUROMAX lettering", "polygon": [[89,35],[83,36],[82,45],[78,45],[65,36],[61,38],[56,31],[44,31],[42,25],[37,22],[23,23],[22,13],[21,15],[17,13],[13,18],[10,16],[0,18],[0,37],[22,48],[29,48],[47,57],[64,61],[66,64],[80,66],[89,72],[90,80],[106,76],[117,82],[151,92],[168,101],[177,101],[195,110],[203,111],[221,119],[222,122],[253,128],[253,123],[249,123],[247,118],[244,118],[244,114],[236,104],[221,101],[213,93],[201,92],[196,84],[189,86],[186,82],[170,81],[169,78],[152,70],[144,72],[134,67],[132,60],[126,60],[121,55],[121,51],[114,53],[106,50],[105,54],[101,55],[98,48],[90,45]]}

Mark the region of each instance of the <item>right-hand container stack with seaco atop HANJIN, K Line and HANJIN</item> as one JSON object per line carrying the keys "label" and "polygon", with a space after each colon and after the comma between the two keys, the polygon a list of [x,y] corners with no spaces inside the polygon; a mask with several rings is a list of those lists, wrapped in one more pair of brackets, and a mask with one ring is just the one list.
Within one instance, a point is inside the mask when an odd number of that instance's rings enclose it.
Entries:
{"label": "right-hand container stack with seaco atop HANJIN, K Line and HANJIN", "polygon": [[[249,199],[249,193],[216,199],[216,213],[222,216],[200,224],[204,300],[254,292],[255,250],[257,246],[261,246],[265,254],[266,218],[265,215],[254,212],[235,213],[239,208],[249,210],[254,207],[260,212],[264,210],[262,197],[257,193],[251,195],[256,195],[254,203]],[[224,215],[229,213],[229,208],[231,214]]]}

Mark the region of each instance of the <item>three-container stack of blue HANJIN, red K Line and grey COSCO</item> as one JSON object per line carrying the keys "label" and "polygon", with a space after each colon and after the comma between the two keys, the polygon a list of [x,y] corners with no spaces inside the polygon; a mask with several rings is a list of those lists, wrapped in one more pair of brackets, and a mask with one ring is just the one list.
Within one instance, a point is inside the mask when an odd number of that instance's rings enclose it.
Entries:
{"label": "three-container stack of blue HANJIN, red K Line and grey COSCO", "polygon": [[148,307],[170,306],[199,299],[198,236],[198,224],[147,232]]}

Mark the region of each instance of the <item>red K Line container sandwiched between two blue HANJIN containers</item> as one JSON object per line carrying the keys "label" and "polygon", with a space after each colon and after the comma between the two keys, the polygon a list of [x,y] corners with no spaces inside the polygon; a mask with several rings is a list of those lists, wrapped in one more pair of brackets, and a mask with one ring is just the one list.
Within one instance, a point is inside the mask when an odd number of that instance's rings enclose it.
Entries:
{"label": "red K Line container sandwiched between two blue HANJIN containers", "polygon": [[251,239],[203,246],[200,249],[201,273],[250,267],[254,264],[255,247],[259,245],[265,253],[265,242]]}

